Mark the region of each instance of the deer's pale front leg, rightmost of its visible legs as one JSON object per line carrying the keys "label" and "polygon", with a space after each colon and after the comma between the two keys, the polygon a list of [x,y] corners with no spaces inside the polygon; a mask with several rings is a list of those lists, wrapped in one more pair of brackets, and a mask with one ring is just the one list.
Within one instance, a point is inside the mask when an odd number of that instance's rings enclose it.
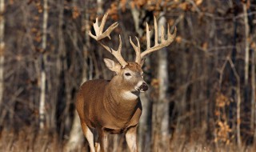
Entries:
{"label": "deer's pale front leg, rightmost of its visible legs", "polygon": [[126,142],[131,152],[138,152],[137,126],[132,126],[126,131]]}

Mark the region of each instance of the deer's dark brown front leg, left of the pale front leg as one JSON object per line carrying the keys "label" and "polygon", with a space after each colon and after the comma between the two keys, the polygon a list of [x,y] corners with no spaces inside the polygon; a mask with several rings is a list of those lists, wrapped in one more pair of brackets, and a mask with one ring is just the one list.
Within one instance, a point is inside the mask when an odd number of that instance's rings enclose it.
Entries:
{"label": "deer's dark brown front leg, left of the pale front leg", "polygon": [[102,152],[106,152],[107,151],[107,133],[106,131],[101,128],[98,129],[98,142],[99,142],[99,146],[97,146],[97,150],[100,149]]}

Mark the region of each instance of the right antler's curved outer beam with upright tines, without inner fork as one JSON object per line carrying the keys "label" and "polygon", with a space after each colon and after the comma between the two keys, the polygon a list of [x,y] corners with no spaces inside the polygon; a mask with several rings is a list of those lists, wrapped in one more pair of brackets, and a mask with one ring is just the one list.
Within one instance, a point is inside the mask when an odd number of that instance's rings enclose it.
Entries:
{"label": "right antler's curved outer beam with upright tines, without inner fork", "polygon": [[168,24],[167,39],[165,39],[165,34],[164,34],[165,30],[164,30],[164,27],[161,26],[161,42],[158,44],[158,24],[157,24],[156,18],[154,17],[154,46],[150,47],[150,34],[149,34],[150,31],[148,30],[148,26],[146,26],[147,48],[144,52],[142,52],[141,58],[143,58],[146,54],[150,54],[155,50],[160,50],[163,47],[169,46],[170,43],[174,41],[174,38],[176,37],[176,32],[177,32],[177,29],[175,27],[174,34],[170,34],[170,26]]}

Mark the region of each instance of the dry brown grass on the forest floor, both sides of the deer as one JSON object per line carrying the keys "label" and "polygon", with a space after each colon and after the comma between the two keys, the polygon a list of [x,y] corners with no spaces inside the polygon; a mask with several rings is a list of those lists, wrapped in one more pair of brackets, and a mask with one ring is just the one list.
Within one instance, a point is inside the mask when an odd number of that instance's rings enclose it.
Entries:
{"label": "dry brown grass on the forest floor, both sides of the deer", "polygon": [[[31,130],[32,131],[32,130]],[[63,142],[64,141],[64,142]],[[117,150],[110,151],[124,151],[129,152],[125,144],[125,139],[119,140],[123,142],[122,147]],[[1,152],[61,152],[65,151],[64,147],[66,140],[58,140],[58,134],[36,134],[30,130],[21,130],[18,132],[2,130],[0,132],[0,151]],[[119,144],[120,146],[120,144]],[[86,152],[88,145],[85,142],[82,146],[78,147],[77,152]],[[254,152],[256,146],[242,146],[239,150],[236,144],[230,143],[229,145],[216,146],[209,143],[202,138],[190,138],[187,140],[186,136],[180,135],[178,138],[172,139],[170,142],[170,150],[174,152]]]}

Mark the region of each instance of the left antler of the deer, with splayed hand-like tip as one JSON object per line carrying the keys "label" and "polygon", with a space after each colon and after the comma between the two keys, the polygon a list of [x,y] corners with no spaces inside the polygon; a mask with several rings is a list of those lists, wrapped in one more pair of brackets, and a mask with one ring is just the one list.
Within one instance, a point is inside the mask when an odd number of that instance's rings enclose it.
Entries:
{"label": "left antler of the deer, with splayed hand-like tip", "polygon": [[110,27],[108,27],[106,29],[105,32],[102,33],[103,28],[104,28],[105,23],[106,23],[107,15],[108,15],[107,13],[104,14],[104,17],[102,18],[102,23],[101,23],[100,26],[98,26],[98,18],[96,18],[96,22],[94,23],[94,30],[95,30],[96,35],[91,34],[91,32],[89,32],[89,35],[90,35],[91,38],[94,38],[96,41],[98,41],[98,43],[101,46],[103,46],[106,50],[108,50],[110,52],[110,54],[113,54],[114,57],[118,60],[118,62],[122,65],[122,67],[125,67],[127,65],[127,62],[122,58],[122,54],[121,54],[122,39],[121,39],[120,34],[119,34],[118,50],[113,50],[109,46],[106,46],[102,42],[100,42],[100,40],[102,40],[103,38],[106,38],[106,37],[110,38],[110,33],[118,26],[118,22],[114,22]]}

